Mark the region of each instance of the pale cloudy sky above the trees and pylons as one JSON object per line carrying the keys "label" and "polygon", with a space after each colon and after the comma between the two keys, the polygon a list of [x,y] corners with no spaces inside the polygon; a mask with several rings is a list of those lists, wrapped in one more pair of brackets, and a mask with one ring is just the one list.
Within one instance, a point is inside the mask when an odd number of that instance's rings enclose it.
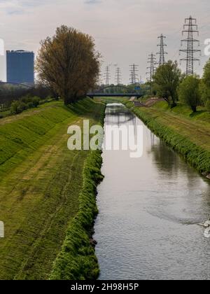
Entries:
{"label": "pale cloudy sky above the trees and pylons", "polygon": [[[160,34],[167,37],[167,59],[179,60],[181,31],[190,15],[197,18],[200,30],[195,38],[200,40],[202,56],[195,71],[202,75],[209,59],[204,55],[204,40],[210,38],[209,13],[209,0],[0,0],[0,38],[5,50],[36,54],[40,41],[52,36],[56,27],[75,27],[94,37],[102,54],[102,73],[110,65],[114,83],[118,66],[127,84],[134,63],[139,65],[139,77],[146,80],[148,55],[158,52]],[[183,62],[181,69],[185,67]],[[6,80],[5,55],[0,56],[0,80]]]}

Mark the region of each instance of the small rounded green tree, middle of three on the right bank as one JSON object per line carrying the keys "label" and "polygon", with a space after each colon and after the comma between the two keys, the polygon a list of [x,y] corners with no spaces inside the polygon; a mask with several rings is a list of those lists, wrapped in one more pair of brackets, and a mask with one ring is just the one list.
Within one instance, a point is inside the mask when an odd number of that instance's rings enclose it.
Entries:
{"label": "small rounded green tree, middle of three on the right bank", "polygon": [[179,98],[186,103],[193,112],[201,105],[200,78],[198,76],[186,76],[179,86]]}

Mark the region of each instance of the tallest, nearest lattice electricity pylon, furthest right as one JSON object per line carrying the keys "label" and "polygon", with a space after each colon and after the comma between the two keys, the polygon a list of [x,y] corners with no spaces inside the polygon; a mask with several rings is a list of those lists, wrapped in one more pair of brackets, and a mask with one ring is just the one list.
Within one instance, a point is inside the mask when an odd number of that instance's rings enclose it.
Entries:
{"label": "tallest, nearest lattice electricity pylon, furthest right", "polygon": [[196,40],[193,36],[193,34],[197,33],[199,35],[199,31],[197,30],[197,24],[196,24],[196,18],[186,18],[185,25],[183,26],[182,34],[188,34],[188,38],[181,40],[181,45],[183,45],[183,42],[187,43],[187,49],[180,50],[180,52],[185,52],[186,57],[182,58],[181,61],[186,61],[186,75],[191,76],[194,73],[194,62],[198,61],[200,62],[200,59],[195,58],[195,53],[200,52],[201,50],[194,49],[194,43],[198,43],[200,45],[199,41]]}

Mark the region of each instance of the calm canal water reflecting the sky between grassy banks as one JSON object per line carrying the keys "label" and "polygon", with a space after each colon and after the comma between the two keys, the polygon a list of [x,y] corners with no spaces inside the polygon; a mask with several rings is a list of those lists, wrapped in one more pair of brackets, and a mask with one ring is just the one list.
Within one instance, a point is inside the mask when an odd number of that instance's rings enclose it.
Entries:
{"label": "calm canal water reflecting the sky between grassy banks", "polygon": [[144,127],[144,154],[103,153],[94,239],[99,279],[210,279],[210,184],[122,104],[105,125]]}

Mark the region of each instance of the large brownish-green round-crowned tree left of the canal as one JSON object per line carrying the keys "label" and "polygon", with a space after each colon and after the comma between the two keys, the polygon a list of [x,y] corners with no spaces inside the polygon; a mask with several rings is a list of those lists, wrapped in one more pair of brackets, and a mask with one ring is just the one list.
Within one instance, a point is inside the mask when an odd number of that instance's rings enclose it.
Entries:
{"label": "large brownish-green round-crowned tree left of the canal", "polygon": [[52,38],[41,41],[36,59],[39,80],[65,104],[74,102],[97,82],[100,55],[94,47],[91,36],[62,25]]}

